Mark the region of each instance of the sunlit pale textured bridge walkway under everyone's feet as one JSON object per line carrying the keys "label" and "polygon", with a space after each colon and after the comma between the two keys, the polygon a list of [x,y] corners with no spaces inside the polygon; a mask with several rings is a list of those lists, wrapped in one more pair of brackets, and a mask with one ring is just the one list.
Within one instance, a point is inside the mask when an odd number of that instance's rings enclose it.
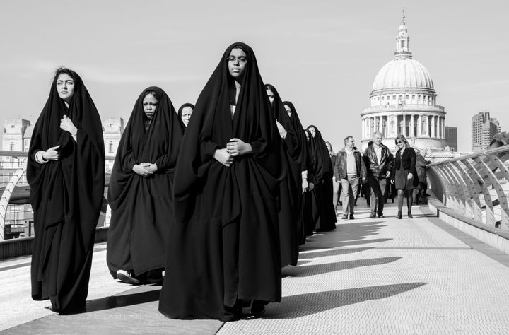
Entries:
{"label": "sunlit pale textured bridge walkway under everyone's feet", "polygon": [[[0,262],[0,330],[6,334],[509,334],[509,256],[414,206],[414,219],[356,219],[313,235],[298,266],[283,269],[283,299],[261,319],[172,320],[160,286],[129,286],[95,246],[86,312],[57,315],[30,298],[30,257]],[[406,208],[404,207],[404,213]]]}

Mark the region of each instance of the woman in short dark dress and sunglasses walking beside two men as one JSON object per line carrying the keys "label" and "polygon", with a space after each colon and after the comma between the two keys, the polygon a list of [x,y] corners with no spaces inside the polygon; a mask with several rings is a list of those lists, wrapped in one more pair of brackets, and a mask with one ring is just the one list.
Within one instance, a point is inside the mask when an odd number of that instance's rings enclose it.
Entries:
{"label": "woman in short dark dress and sunglasses walking beside two men", "polygon": [[414,194],[414,181],[416,181],[416,153],[404,135],[394,139],[398,150],[394,160],[394,169],[391,174],[391,183],[394,183],[398,196],[398,213],[396,218],[402,218],[403,198],[406,197],[408,217],[414,218],[411,213],[412,198]]}

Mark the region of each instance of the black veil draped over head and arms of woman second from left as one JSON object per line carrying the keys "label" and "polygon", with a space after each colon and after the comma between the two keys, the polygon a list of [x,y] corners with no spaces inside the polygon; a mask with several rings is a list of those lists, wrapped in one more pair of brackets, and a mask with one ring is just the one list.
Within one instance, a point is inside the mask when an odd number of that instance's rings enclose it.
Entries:
{"label": "black veil draped over head and arms of woman second from left", "polygon": [[[150,126],[145,130],[147,117],[143,100],[147,91],[156,93],[158,105]],[[119,206],[118,202],[122,202],[121,196],[125,193],[124,190],[127,190],[133,182],[131,177],[144,178],[136,175],[136,172],[132,170],[135,164],[155,163],[158,167],[157,173],[165,173],[172,179],[183,131],[182,119],[177,117],[175,107],[164,90],[152,86],[141,92],[134,104],[115,156],[110,187],[108,187],[108,200],[113,209]]]}

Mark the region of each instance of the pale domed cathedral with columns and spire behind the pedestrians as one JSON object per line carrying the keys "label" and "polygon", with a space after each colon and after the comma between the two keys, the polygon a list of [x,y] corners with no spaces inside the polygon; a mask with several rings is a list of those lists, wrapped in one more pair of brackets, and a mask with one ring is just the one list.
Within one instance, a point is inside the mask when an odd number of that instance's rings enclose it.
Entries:
{"label": "pale domed cathedral with columns and spire behind the pedestrians", "polygon": [[436,105],[436,92],[428,70],[412,57],[404,11],[394,57],[378,71],[370,94],[370,107],[362,117],[362,148],[375,131],[383,143],[395,149],[394,139],[403,134],[416,148],[445,148],[445,110]]}

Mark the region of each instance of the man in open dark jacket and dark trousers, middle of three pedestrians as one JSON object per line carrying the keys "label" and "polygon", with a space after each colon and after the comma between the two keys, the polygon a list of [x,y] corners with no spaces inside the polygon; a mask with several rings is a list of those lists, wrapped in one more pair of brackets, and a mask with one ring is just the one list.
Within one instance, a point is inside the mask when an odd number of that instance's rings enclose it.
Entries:
{"label": "man in open dark jacket and dark trousers, middle of three pedestrians", "polygon": [[368,184],[370,185],[370,218],[379,218],[383,216],[383,206],[385,203],[385,186],[387,178],[390,177],[392,170],[392,153],[389,148],[382,143],[383,135],[380,131],[373,134],[373,144],[364,151],[364,163],[368,170]]}

